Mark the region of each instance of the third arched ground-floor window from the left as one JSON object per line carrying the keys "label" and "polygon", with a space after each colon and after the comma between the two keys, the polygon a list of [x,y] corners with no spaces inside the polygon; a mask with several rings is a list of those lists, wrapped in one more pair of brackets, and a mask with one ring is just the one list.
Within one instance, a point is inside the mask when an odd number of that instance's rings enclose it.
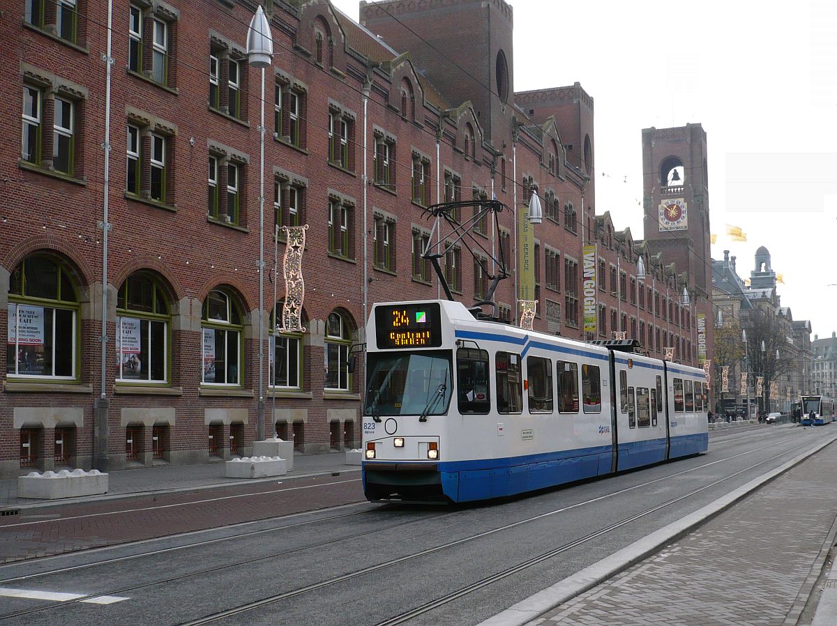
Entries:
{"label": "third arched ground-floor window from the left", "polygon": [[212,290],[203,300],[201,331],[203,383],[241,387],[244,326],[239,307],[225,290]]}

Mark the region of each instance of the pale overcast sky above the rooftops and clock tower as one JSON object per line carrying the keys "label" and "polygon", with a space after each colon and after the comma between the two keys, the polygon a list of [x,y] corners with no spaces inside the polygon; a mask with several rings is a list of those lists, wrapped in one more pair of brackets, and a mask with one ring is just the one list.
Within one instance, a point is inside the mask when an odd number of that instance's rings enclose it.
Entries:
{"label": "pale overcast sky above the rooftops and clock tower", "polygon": [[[334,4],[357,19],[356,0]],[[515,0],[514,89],[595,101],[596,212],[642,239],[641,130],[700,122],[712,256],[765,246],[782,305],[837,331],[837,3]],[[545,25],[549,31],[545,32]],[[464,33],[466,36],[466,33]],[[742,228],[732,241],[727,224]],[[812,339],[814,337],[812,336]]]}

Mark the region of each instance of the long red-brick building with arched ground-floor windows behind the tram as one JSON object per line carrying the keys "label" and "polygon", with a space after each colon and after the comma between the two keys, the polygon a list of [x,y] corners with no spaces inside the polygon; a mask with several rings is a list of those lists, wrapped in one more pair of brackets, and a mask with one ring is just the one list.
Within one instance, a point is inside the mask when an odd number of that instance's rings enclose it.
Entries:
{"label": "long red-brick building with arched ground-floor windows behind the tram", "polygon": [[[680,297],[694,281],[595,213],[593,99],[578,83],[514,92],[502,0],[362,3],[363,25],[323,0],[267,3],[260,311],[261,74],[245,54],[255,8],[117,0],[110,92],[104,0],[16,0],[5,15],[16,71],[0,78],[0,99],[22,141],[7,132],[0,145],[0,475],[248,454],[259,324],[265,433],[300,453],[357,446],[364,320],[376,301],[438,297],[420,256],[424,208],[454,199],[542,198],[538,330],[626,331],[655,356],[673,346],[696,364],[694,309]],[[511,265],[514,219],[474,227]],[[283,333],[285,241],[276,259],[274,233],[300,224],[306,330]],[[583,327],[583,244],[596,246],[595,332]],[[457,297],[483,299],[490,259],[460,247],[443,267]],[[496,291],[506,321],[515,288]]]}

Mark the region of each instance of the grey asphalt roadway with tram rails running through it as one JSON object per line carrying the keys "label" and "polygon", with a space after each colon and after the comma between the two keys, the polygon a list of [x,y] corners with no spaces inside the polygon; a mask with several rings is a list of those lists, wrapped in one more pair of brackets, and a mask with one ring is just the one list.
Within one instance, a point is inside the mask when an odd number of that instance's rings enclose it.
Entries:
{"label": "grey asphalt roadway with tram rails running through it", "polygon": [[[439,606],[405,623],[480,623],[826,434],[833,437],[822,428],[713,434],[707,454],[489,505],[349,504],[10,564],[0,567],[0,588],[127,599],[0,597],[0,625],[402,623],[429,603]],[[359,485],[341,489],[339,499],[351,501]]]}

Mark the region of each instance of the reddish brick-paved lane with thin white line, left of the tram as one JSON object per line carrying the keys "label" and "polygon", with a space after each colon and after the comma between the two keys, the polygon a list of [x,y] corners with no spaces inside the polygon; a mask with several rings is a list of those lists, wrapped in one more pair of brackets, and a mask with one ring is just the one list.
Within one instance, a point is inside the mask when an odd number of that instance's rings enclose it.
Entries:
{"label": "reddish brick-paved lane with thin white line, left of the tram", "polygon": [[365,501],[360,474],[39,506],[0,517],[0,563]]}

